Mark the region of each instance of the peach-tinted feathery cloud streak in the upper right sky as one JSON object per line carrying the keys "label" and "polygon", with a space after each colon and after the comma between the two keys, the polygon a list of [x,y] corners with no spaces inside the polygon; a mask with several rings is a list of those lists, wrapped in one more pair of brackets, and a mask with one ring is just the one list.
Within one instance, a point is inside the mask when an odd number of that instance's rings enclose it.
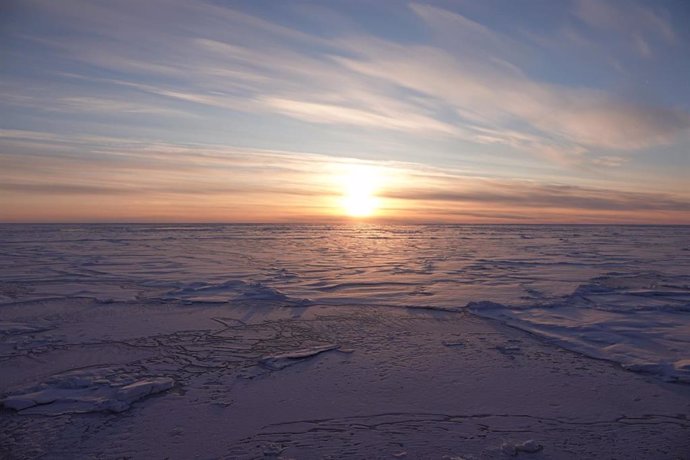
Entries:
{"label": "peach-tinted feathery cloud streak in the upper right sky", "polygon": [[[530,79],[519,70],[519,62],[511,63],[513,50],[520,49],[514,42],[436,7],[416,5],[415,11],[431,29],[454,35],[448,40],[456,45],[453,52],[357,39],[350,49],[358,51],[360,58],[341,62],[363,74],[433,96],[439,103],[447,101],[460,116],[465,115],[466,122],[484,121],[493,128],[527,123],[534,130],[525,135],[539,136],[545,145],[556,137],[565,150],[660,145],[690,127],[690,115],[680,109],[645,106],[602,90]],[[467,44],[470,50],[465,50]]]}

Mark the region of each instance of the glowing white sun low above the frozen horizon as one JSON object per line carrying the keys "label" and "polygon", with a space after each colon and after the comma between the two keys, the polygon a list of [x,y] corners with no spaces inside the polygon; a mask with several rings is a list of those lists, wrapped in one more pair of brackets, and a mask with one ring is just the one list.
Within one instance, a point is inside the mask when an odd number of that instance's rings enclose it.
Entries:
{"label": "glowing white sun low above the frozen horizon", "polygon": [[380,177],[376,169],[365,165],[353,165],[342,176],[343,211],[350,217],[369,217],[379,207],[376,191]]}

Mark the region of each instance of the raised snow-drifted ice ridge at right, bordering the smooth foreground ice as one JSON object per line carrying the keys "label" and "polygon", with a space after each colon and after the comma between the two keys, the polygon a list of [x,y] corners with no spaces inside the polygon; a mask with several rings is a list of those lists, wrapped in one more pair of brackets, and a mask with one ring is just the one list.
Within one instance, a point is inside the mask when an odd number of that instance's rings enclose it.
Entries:
{"label": "raised snow-drifted ice ridge at right, bordering the smooth foreground ice", "polygon": [[689,278],[614,274],[548,305],[510,308],[475,302],[468,307],[626,369],[690,383]]}

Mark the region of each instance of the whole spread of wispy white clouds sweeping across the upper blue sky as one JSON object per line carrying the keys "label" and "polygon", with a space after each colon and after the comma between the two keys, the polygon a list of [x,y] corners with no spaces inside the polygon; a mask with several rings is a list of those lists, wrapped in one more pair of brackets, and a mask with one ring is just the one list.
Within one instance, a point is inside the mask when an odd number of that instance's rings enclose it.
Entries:
{"label": "whole spread of wispy white clouds sweeping across the upper blue sky", "polygon": [[[165,102],[172,99],[309,123],[451,136],[565,163],[588,150],[664,145],[690,127],[690,115],[679,108],[540,81],[523,68],[534,53],[528,42],[430,5],[410,5],[432,32],[416,44],[346,32],[326,38],[201,2],[37,5],[96,37],[61,37],[50,46],[129,75],[112,79],[115,85],[163,98],[137,107],[112,99],[84,104],[94,98],[70,94],[53,110],[180,110]],[[591,27],[634,30],[642,47],[646,34],[676,40],[663,17],[641,7],[582,0],[575,12]],[[117,28],[109,27],[114,23]]]}

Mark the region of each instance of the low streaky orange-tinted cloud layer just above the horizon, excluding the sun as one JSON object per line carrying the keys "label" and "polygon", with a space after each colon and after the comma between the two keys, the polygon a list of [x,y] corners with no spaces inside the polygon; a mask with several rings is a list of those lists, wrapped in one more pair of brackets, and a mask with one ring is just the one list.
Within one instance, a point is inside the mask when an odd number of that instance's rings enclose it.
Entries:
{"label": "low streaky orange-tinted cloud layer just above the horizon, excluding the sun", "polygon": [[[130,220],[147,220],[152,206],[168,220],[189,220],[185,213],[192,206],[194,216],[212,220],[228,220],[223,212],[229,208],[233,217],[239,213],[247,220],[335,218],[343,192],[338,175],[349,165],[366,164],[381,171],[381,216],[388,220],[466,222],[483,216],[530,222],[567,216],[570,221],[641,222],[656,216],[690,221],[687,195],[481,177],[422,164],[362,163],[301,152],[0,134],[13,141],[0,152],[6,220],[21,220],[27,212],[40,220],[60,206],[74,212],[99,204],[128,210],[117,217]],[[95,140],[97,147],[83,149]],[[56,144],[79,146],[82,153],[56,150]],[[74,218],[79,217],[85,218]]]}

